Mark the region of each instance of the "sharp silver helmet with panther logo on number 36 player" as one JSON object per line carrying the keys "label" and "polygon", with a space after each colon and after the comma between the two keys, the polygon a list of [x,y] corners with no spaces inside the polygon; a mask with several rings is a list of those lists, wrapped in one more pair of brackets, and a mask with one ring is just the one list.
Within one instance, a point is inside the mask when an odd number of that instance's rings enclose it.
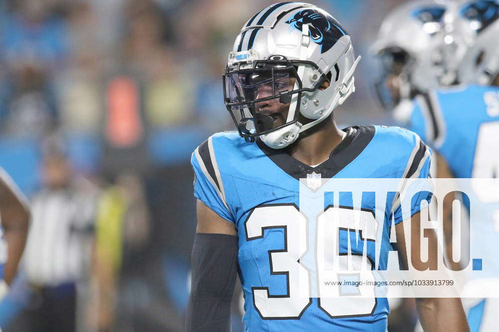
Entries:
{"label": "sharp silver helmet with panther logo on number 36 player", "polygon": [[[327,12],[309,3],[276,3],[251,17],[237,37],[224,74],[225,104],[241,136],[284,148],[350,96],[359,60],[350,36]],[[279,84],[290,79],[292,91]],[[319,89],[327,79],[330,86]],[[262,84],[273,88],[258,98]],[[271,100],[290,104],[287,120],[275,128],[271,116],[255,109]],[[299,123],[299,113],[313,121]]]}

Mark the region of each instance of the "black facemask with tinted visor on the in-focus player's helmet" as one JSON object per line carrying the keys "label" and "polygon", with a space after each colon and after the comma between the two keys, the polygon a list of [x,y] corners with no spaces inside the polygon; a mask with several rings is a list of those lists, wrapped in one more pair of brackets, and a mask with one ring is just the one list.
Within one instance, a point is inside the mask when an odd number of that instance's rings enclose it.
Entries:
{"label": "black facemask with tinted visor on the in-focus player's helmet", "polygon": [[[300,65],[311,67],[319,74],[311,88],[303,88],[303,83],[297,73]],[[289,86],[290,78],[295,79],[292,86]],[[236,80],[239,82],[235,82]],[[256,60],[250,68],[248,68],[248,62],[243,61],[234,63],[231,68],[229,66],[226,68],[226,73],[223,75],[224,101],[240,135],[247,140],[252,140],[255,136],[297,122],[302,93],[314,92],[326,80],[326,75],[311,61]],[[286,82],[288,83],[285,84]],[[261,86],[266,86],[265,97],[256,99],[257,89]],[[294,118],[283,125],[272,127],[273,118],[255,110],[255,104],[266,101],[278,100],[281,104],[289,104],[292,96],[296,94],[298,96]]]}

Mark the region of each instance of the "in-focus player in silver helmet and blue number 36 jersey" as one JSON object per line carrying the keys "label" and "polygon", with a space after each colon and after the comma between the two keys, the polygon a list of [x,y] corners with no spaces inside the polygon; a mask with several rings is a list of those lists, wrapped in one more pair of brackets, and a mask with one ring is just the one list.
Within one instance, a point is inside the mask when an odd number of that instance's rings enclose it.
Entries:
{"label": "in-focus player in silver helmet and blue number 36 jersey", "polygon": [[[198,227],[187,331],[230,331],[237,272],[247,331],[386,331],[384,298],[346,298],[339,304],[303,297],[295,287],[302,268],[298,242],[313,235],[299,233],[294,223],[301,218],[300,178],[429,174],[430,149],[414,133],[337,127],[332,111],[354,91],[359,60],[340,23],[311,4],[273,4],[243,27],[224,75],[225,103],[238,131],[211,136],[192,156]],[[327,212],[332,201],[324,197],[323,204]],[[391,204],[387,211],[395,211],[401,239],[404,219]],[[340,197],[339,210],[374,208],[372,199],[361,205]],[[418,226],[419,208],[412,206],[412,227]],[[341,254],[348,232],[338,228],[339,248],[326,250]],[[419,243],[419,232],[411,236]],[[385,255],[391,248],[388,232],[381,241]],[[397,244],[405,252],[405,242]],[[407,264],[405,255],[401,259]],[[417,303],[428,331],[468,331],[459,299]]]}

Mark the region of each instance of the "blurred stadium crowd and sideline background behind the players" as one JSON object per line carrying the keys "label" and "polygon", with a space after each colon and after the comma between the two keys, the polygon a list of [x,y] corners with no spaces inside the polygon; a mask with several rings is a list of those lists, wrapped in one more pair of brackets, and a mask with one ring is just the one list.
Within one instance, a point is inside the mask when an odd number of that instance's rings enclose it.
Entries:
{"label": "blurred stadium crowd and sideline background behind the players", "polygon": [[[57,145],[71,181],[92,186],[75,189],[95,199],[73,276],[79,331],[183,330],[196,225],[191,153],[211,133],[232,130],[221,74],[243,23],[272,2],[0,1],[0,165],[34,200],[50,187],[47,146]],[[404,1],[312,2],[342,22],[363,57],[337,122],[392,123],[372,92],[369,47],[384,15]],[[50,269],[52,258],[43,259]],[[24,259],[0,304],[5,331],[29,331],[30,291],[46,281],[28,270]],[[404,302],[391,331],[413,329]],[[233,331],[241,329],[235,314]]]}

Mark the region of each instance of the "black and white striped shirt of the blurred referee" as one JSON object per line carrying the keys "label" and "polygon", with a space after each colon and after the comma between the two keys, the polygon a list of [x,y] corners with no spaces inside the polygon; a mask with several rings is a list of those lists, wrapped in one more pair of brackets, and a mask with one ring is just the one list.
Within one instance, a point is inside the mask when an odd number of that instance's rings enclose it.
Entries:
{"label": "black and white striped shirt of the blurred referee", "polygon": [[81,187],[44,189],[32,201],[23,267],[33,284],[53,286],[83,276],[98,195]]}

